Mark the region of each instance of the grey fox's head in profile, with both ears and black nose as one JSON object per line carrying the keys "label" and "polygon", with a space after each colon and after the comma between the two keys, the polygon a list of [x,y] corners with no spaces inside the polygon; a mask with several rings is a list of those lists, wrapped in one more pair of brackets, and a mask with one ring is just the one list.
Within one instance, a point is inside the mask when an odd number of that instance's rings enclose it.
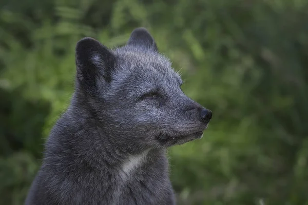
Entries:
{"label": "grey fox's head in profile, with both ears and black nose", "polygon": [[129,152],[202,137],[212,113],[181,90],[182,79],[144,28],[109,49],[90,37],[75,49],[76,100],[95,126]]}

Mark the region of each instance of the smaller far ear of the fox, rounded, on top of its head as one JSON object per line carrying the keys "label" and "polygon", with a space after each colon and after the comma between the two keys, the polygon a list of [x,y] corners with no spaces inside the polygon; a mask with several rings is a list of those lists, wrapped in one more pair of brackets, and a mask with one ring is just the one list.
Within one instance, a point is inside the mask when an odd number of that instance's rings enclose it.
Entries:
{"label": "smaller far ear of the fox, rounded, on top of its head", "polygon": [[158,50],[154,38],[145,28],[142,27],[134,29],[131,32],[127,45],[143,47],[155,51]]}

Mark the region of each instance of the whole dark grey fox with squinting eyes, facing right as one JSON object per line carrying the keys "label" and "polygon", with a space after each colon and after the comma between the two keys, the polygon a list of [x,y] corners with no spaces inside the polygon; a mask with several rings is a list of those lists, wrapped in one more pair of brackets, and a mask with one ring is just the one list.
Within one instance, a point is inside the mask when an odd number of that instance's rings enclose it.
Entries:
{"label": "whole dark grey fox with squinting eyes, facing right", "polygon": [[166,149],[200,138],[211,112],[182,92],[144,28],[113,50],[83,38],[75,56],[75,91],[26,204],[175,204]]}

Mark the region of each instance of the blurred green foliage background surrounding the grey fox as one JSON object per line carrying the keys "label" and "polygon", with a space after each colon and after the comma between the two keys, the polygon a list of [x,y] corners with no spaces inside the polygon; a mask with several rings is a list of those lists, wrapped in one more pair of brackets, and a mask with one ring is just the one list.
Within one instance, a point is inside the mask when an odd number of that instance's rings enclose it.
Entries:
{"label": "blurred green foliage background surrounding the grey fox", "polygon": [[[308,1],[1,0],[0,204],[23,204],[73,92],[76,42],[146,27],[213,111],[169,150],[178,204],[308,204]],[[42,204],[43,205],[43,204]]]}

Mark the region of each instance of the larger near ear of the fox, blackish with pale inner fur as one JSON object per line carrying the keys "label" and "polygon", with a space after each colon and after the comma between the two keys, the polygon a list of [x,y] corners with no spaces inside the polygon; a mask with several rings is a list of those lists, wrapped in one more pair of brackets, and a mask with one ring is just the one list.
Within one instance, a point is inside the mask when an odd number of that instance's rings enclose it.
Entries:
{"label": "larger near ear of the fox, blackish with pale inner fur", "polygon": [[99,91],[111,81],[115,56],[98,40],[90,37],[81,39],[75,49],[76,80],[87,91]]}

